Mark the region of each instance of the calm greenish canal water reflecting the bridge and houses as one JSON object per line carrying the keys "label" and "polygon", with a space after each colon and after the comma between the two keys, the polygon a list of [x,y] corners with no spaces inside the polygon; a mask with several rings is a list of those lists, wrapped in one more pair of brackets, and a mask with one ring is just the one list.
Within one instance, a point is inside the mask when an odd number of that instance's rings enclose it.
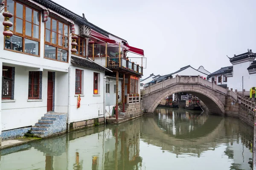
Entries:
{"label": "calm greenish canal water reflecting the bridge and houses", "polygon": [[250,170],[253,128],[181,108],[1,150],[1,170]]}

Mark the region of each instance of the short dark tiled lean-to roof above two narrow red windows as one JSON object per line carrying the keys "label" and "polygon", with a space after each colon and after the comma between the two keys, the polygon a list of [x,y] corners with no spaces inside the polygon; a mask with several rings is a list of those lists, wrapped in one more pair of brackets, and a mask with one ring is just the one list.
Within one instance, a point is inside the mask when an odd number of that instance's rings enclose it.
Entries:
{"label": "short dark tiled lean-to roof above two narrow red windows", "polygon": [[107,70],[106,68],[102,67],[99,64],[96,64],[95,62],[91,62],[88,59],[83,59],[80,57],[71,56],[71,63],[78,65],[78,66],[94,69],[94,70],[101,70],[101,71]]}

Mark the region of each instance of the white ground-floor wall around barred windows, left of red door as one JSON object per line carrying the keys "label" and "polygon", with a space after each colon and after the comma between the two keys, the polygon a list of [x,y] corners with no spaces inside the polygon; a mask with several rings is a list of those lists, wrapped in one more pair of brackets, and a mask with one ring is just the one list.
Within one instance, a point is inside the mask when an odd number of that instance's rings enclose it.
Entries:
{"label": "white ground-floor wall around barred windows, left of red door", "polygon": [[2,100],[2,130],[34,126],[47,113],[47,71],[43,71],[42,100],[28,100],[28,88],[29,71],[16,66],[14,100]]}

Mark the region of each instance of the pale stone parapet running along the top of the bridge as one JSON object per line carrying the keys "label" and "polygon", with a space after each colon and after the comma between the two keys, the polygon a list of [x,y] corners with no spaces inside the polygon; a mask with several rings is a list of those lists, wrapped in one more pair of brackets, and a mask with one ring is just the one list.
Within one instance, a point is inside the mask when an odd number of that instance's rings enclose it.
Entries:
{"label": "pale stone parapet running along the top of the bridge", "polygon": [[160,83],[157,83],[155,85],[145,88],[144,90],[142,90],[143,96],[157,92],[164,88],[168,88],[169,86],[175,85],[175,84],[191,84],[191,85],[201,84],[215,91],[219,91],[222,94],[232,96],[234,99],[237,99],[237,94],[234,93],[233,91],[229,91],[226,88],[222,88],[221,86],[215,85],[215,83],[202,79],[200,76],[178,76],[178,75],[176,75],[176,77],[173,79],[167,79]]}

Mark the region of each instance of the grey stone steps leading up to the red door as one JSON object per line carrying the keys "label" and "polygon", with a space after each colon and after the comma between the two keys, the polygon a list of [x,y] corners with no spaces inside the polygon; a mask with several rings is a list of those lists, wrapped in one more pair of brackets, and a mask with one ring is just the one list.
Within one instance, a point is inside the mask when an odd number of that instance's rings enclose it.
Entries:
{"label": "grey stone steps leading up to the red door", "polygon": [[31,128],[30,133],[43,138],[67,129],[66,113],[47,113]]}

